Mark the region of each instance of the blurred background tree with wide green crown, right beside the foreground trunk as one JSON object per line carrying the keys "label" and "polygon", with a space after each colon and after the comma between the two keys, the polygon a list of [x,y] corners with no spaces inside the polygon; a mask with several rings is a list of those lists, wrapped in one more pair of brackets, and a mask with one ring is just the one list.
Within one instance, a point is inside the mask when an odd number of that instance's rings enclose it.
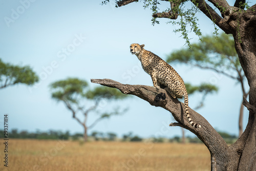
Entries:
{"label": "blurred background tree with wide green crown, right beside the foreground trunk", "polygon": [[[168,63],[182,62],[200,69],[211,70],[223,74],[241,86],[243,96],[247,98],[249,91],[246,90],[245,76],[240,65],[239,58],[234,49],[234,41],[231,35],[222,33],[218,40],[215,36],[203,36],[202,41],[191,44],[192,49],[183,48],[172,52]],[[243,99],[239,112],[239,137],[243,133]]]}

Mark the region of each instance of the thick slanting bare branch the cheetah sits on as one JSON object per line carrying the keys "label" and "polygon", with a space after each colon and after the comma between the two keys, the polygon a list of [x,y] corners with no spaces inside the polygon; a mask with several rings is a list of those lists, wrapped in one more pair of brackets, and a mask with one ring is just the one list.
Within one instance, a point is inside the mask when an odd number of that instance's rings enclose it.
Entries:
{"label": "thick slanting bare branch the cheetah sits on", "polygon": [[[188,123],[186,119],[184,104],[176,98],[174,99],[168,96],[167,92],[164,89],[160,89],[157,91],[157,89],[154,87],[122,84],[111,79],[91,79],[91,82],[101,84],[102,86],[119,89],[124,94],[135,95],[149,102],[151,105],[160,106],[166,109],[167,111],[172,113],[174,118],[179,122],[179,124],[182,125],[182,127],[196,134],[198,138],[204,142],[212,156],[215,156],[215,158],[218,160],[222,160],[221,162],[227,160],[226,152],[228,146],[223,138],[209,124],[209,122],[197,112],[189,109],[190,116],[194,120],[194,122],[202,125],[200,129],[195,129]],[[159,93],[165,93],[166,99],[156,101],[155,97]]]}

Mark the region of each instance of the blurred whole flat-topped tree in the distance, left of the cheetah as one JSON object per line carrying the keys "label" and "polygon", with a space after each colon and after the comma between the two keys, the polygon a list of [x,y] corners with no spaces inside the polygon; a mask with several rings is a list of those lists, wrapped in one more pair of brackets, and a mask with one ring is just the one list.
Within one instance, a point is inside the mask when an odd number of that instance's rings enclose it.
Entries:
{"label": "blurred whole flat-topped tree in the distance, left of the cheetah", "polygon": [[[88,139],[88,129],[91,129],[100,120],[109,118],[113,115],[118,115],[126,110],[124,109],[121,111],[119,108],[116,108],[111,112],[98,111],[101,101],[105,100],[105,102],[110,102],[111,100],[123,99],[127,96],[123,95],[116,89],[107,87],[96,87],[90,90],[88,88],[87,81],[78,78],[67,78],[53,82],[50,84],[50,89],[52,91],[52,98],[57,101],[62,101],[72,112],[72,117],[76,119],[80,125],[82,125],[84,129],[84,141],[87,141]],[[94,104],[91,105],[90,108],[86,108],[86,102],[88,104],[93,102]],[[91,125],[88,125],[88,114],[91,112],[100,114],[99,117],[93,123],[91,123]],[[83,121],[77,117],[78,113],[81,113],[84,116]]]}

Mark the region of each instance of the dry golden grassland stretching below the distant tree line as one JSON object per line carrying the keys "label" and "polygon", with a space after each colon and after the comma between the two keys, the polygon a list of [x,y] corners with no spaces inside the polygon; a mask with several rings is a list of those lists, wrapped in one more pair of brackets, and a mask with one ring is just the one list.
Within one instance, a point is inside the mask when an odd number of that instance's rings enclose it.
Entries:
{"label": "dry golden grassland stretching below the distant tree line", "polygon": [[10,139],[8,169],[2,143],[0,148],[0,170],[210,170],[203,144]]}

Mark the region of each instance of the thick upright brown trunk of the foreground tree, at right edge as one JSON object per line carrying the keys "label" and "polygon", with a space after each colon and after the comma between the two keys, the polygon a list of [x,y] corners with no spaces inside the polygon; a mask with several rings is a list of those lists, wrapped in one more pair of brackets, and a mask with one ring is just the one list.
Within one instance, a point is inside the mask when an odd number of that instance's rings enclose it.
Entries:
{"label": "thick upright brown trunk of the foreground tree, at right edge", "polygon": [[[240,21],[238,31],[233,34],[241,66],[250,87],[249,102],[256,106],[256,22]],[[238,170],[256,170],[256,111],[249,112],[249,121],[239,138],[241,157],[238,159]]]}

